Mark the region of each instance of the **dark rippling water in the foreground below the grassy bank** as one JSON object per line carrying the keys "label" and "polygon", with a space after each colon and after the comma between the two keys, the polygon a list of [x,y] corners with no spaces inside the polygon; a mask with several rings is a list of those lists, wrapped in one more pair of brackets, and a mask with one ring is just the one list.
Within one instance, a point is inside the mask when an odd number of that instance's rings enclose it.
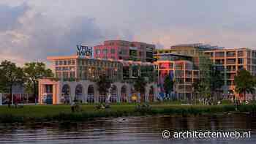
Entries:
{"label": "dark rippling water in the foreground below the grassy bank", "polygon": [[[164,139],[162,131],[252,131],[250,138]],[[256,117],[250,115],[148,116],[107,118],[69,124],[0,124],[0,143],[256,143]]]}

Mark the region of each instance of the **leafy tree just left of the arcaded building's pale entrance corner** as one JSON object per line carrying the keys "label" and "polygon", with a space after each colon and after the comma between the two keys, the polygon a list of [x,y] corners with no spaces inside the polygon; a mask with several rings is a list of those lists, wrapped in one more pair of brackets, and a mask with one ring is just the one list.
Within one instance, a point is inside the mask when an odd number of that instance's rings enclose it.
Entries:
{"label": "leafy tree just left of the arcaded building's pale entrance corner", "polygon": [[26,77],[26,91],[33,93],[37,99],[38,80],[42,77],[53,77],[53,72],[42,62],[26,63],[23,72]]}

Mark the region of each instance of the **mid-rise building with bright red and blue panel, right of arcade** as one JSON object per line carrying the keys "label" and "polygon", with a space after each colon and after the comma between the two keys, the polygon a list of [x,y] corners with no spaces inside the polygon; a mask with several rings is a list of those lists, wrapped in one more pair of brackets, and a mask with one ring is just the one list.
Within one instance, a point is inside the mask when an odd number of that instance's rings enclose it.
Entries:
{"label": "mid-rise building with bright red and blue panel, right of arcade", "polygon": [[192,83],[199,80],[199,70],[194,69],[192,61],[155,61],[158,74],[159,93],[165,93],[163,84],[168,77],[175,81],[174,92],[178,99],[192,99]]}

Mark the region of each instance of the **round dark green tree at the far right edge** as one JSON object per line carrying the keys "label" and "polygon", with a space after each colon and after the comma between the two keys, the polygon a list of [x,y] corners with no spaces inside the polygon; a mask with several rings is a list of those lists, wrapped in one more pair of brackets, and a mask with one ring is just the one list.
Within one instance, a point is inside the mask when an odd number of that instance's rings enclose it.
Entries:
{"label": "round dark green tree at the far right edge", "polygon": [[245,69],[238,71],[238,74],[235,76],[235,91],[240,95],[244,94],[244,101],[246,101],[246,93],[253,94],[255,89],[255,77],[253,77],[250,72]]}

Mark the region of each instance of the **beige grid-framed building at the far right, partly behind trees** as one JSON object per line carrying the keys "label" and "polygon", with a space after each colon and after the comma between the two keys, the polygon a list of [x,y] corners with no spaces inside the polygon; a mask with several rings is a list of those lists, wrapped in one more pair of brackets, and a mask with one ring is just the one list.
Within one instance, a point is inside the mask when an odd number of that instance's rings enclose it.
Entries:
{"label": "beige grid-framed building at the far right, partly behind trees", "polygon": [[249,48],[222,48],[204,51],[206,56],[216,65],[224,76],[225,94],[236,94],[234,77],[240,69],[246,69],[252,75],[256,75],[256,50]]}

